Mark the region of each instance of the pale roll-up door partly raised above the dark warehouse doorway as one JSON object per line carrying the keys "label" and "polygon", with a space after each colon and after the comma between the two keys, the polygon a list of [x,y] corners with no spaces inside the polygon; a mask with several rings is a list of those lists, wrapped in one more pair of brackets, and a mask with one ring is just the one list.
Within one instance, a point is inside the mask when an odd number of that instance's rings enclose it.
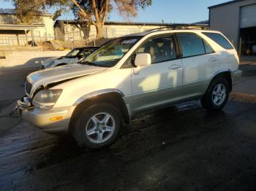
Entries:
{"label": "pale roll-up door partly raised above the dark warehouse doorway", "polygon": [[240,28],[256,26],[256,4],[241,7]]}

